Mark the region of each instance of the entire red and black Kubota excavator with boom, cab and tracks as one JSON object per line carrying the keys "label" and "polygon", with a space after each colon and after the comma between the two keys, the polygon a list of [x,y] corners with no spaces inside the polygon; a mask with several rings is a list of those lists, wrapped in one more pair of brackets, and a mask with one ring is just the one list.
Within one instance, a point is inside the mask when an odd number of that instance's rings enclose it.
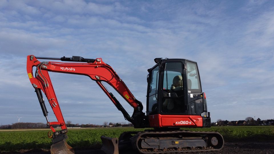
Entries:
{"label": "entire red and black Kubota excavator with boom, cab and tracks", "polygon": [[[65,62],[40,62],[38,59]],[[72,154],[74,150],[66,141],[68,130],[49,72],[88,76],[98,84],[116,108],[122,112],[124,118],[135,128],[150,128],[140,132],[124,132],[119,138],[101,136],[101,149],[107,154],[118,154],[123,148],[128,147],[144,154],[206,152],[222,149],[224,140],[217,132],[180,129],[211,126],[210,112],[207,112],[206,94],[202,92],[197,62],[169,58],[155,58],[154,61],[156,64],[148,69],[145,113],[143,104],[133,96],[118,74],[110,65],[104,63],[102,58],[27,56],[29,80],[37,94],[47,126],[52,131],[48,133],[53,142],[51,153]],[[134,110],[132,116],[104,84],[109,84],[132,106]],[[47,97],[57,121],[49,121],[42,92]],[[61,127],[61,130],[55,130],[56,125]]]}

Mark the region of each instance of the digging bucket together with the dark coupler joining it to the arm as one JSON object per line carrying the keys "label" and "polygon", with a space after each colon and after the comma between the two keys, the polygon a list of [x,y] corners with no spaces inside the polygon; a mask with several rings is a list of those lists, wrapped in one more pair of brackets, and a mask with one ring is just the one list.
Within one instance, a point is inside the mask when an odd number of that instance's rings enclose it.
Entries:
{"label": "digging bucket together with the dark coupler joining it to the arm", "polygon": [[74,154],[74,150],[66,141],[67,138],[67,134],[62,133],[57,136],[53,136],[51,154]]}

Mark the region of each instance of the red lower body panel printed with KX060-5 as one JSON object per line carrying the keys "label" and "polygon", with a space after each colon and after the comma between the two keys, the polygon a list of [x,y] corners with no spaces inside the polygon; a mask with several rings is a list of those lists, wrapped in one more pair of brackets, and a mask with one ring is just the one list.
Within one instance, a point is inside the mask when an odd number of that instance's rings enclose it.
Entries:
{"label": "red lower body panel printed with KX060-5", "polygon": [[193,115],[151,115],[150,127],[203,127],[203,118]]}

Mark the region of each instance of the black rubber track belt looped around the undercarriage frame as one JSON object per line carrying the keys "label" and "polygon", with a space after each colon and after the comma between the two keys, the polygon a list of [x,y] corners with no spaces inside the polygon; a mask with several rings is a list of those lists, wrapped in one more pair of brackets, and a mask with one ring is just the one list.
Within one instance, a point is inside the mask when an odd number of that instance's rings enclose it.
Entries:
{"label": "black rubber track belt looped around the undercarriage frame", "polygon": [[[174,134],[184,134],[184,135],[214,135],[218,136],[218,145],[214,147],[204,147],[204,148],[196,148],[196,147],[188,147],[188,148],[182,148],[182,149],[158,149],[158,150],[152,150],[152,149],[140,149],[138,145],[138,141],[142,140],[142,136],[144,135],[157,135],[161,137],[161,135],[174,135]],[[190,153],[190,152],[208,152],[208,151],[219,151],[223,148],[223,136],[220,133],[217,132],[204,132],[204,131],[188,131],[188,130],[178,130],[178,131],[144,131],[144,132],[138,132],[134,137],[132,138],[132,145],[133,148],[136,149],[139,153],[144,154],[180,154],[180,153]],[[217,148],[216,148],[217,147]]]}

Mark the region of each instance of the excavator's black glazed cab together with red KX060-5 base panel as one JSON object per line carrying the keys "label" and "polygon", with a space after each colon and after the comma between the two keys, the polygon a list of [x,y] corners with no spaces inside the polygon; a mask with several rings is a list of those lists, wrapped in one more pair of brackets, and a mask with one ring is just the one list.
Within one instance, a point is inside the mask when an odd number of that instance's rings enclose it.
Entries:
{"label": "excavator's black glazed cab together with red KX060-5 base panel", "polygon": [[156,65],[148,69],[150,127],[210,127],[197,63],[168,58],[154,61]]}

